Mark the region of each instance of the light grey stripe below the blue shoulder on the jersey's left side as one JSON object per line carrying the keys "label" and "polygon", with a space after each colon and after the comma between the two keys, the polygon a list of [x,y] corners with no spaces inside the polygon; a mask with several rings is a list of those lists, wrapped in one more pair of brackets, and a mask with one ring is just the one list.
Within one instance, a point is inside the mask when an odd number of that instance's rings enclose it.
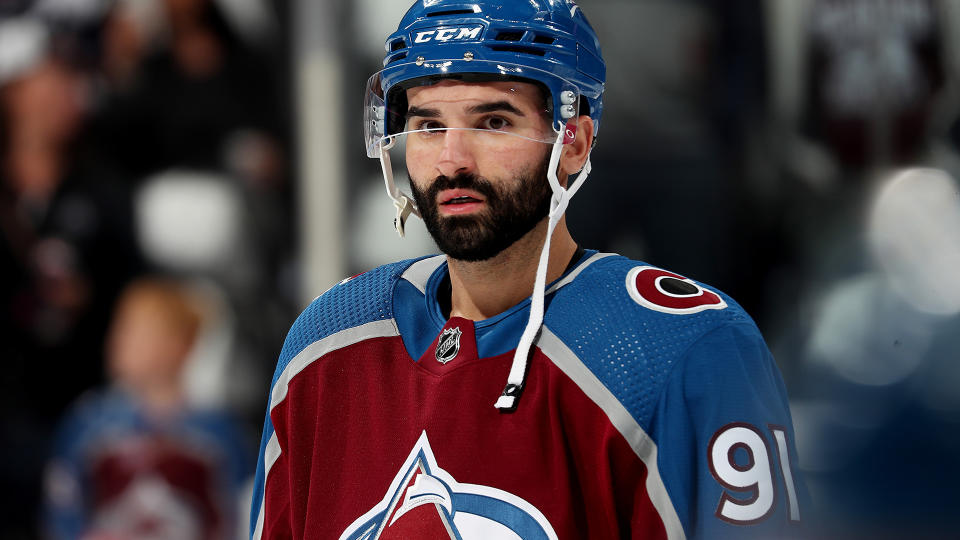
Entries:
{"label": "light grey stripe below the blue shoulder on the jersey's left side", "polygon": [[[314,361],[322,358],[324,355],[335,350],[360,343],[361,341],[366,341],[368,339],[398,335],[400,335],[400,331],[397,329],[396,322],[393,319],[386,319],[382,321],[369,322],[354,328],[348,328],[307,345],[302,351],[294,356],[292,360],[290,360],[287,366],[283,369],[283,372],[280,374],[280,377],[277,378],[277,382],[273,385],[273,390],[270,394],[270,410],[273,411],[274,407],[286,399],[287,392],[290,388],[290,380],[293,379],[293,377],[295,377],[298,373],[306,369],[306,367],[312,364]],[[274,432],[271,435],[270,440],[267,442],[267,447],[264,450],[263,485],[260,486],[261,493],[263,493],[263,498],[260,499],[260,510],[257,515],[257,526],[254,529],[253,535],[251,536],[253,540],[259,540],[263,535],[264,510],[267,496],[267,478],[270,477],[270,470],[273,468],[273,465],[278,459],[280,459],[280,454],[280,442],[277,440],[276,432]]]}

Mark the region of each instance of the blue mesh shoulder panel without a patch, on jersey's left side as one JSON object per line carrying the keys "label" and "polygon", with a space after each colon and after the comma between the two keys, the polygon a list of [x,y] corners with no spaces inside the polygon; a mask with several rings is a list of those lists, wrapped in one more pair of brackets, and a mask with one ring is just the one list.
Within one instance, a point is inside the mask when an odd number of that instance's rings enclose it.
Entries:
{"label": "blue mesh shoulder panel without a patch, on jersey's left side", "polygon": [[305,347],[337,332],[393,318],[393,290],[409,259],[345,279],[317,297],[290,327],[277,372]]}

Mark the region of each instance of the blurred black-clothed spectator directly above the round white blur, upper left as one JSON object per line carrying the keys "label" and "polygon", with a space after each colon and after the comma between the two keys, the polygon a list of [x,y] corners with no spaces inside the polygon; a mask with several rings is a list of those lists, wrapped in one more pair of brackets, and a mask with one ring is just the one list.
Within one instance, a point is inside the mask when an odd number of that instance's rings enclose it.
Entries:
{"label": "blurred black-clothed spectator directly above the round white blur, upper left", "polygon": [[126,175],[171,167],[285,182],[271,49],[244,40],[214,0],[121,0],[104,21],[105,88],[93,136]]}

